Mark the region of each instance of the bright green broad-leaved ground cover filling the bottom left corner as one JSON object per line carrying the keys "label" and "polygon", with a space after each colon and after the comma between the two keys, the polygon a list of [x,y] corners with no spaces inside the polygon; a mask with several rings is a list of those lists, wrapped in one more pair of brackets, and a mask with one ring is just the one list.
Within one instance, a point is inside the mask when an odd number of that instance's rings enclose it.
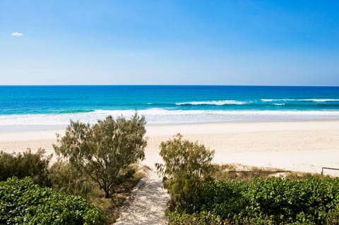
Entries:
{"label": "bright green broad-leaved ground cover filling the bottom left corner", "polygon": [[105,217],[81,197],[9,178],[0,182],[0,224],[90,225],[105,224]]}

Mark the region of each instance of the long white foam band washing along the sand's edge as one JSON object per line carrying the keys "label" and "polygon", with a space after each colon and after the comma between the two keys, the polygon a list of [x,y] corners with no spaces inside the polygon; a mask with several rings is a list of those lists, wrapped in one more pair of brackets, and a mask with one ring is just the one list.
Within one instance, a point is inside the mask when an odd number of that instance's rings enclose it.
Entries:
{"label": "long white foam band washing along the sand's edge", "polygon": [[[78,114],[23,114],[0,116],[1,126],[67,125],[70,120],[95,123],[111,115],[114,118],[133,116],[134,110],[95,110]],[[286,121],[339,119],[339,111],[258,111],[258,110],[138,110],[152,123],[210,123],[225,121]]]}

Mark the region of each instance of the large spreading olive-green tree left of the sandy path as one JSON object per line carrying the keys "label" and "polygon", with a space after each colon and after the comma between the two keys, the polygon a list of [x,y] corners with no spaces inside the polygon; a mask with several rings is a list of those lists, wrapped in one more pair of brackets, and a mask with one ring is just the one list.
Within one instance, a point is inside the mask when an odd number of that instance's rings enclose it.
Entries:
{"label": "large spreading olive-green tree left of the sandy path", "polygon": [[145,132],[145,117],[138,114],[129,120],[107,116],[93,126],[71,121],[64,137],[57,135],[59,145],[54,150],[109,197],[124,171],[145,157]]}

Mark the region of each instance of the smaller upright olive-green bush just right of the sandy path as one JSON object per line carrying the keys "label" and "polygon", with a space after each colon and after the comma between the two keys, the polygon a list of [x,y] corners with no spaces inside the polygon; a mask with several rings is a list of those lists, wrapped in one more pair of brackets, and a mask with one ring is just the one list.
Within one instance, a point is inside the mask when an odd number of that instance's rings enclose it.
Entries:
{"label": "smaller upright olive-green bush just right of the sandy path", "polygon": [[172,197],[172,206],[182,209],[198,200],[198,190],[203,182],[210,181],[214,151],[198,142],[182,140],[177,134],[173,140],[161,142],[160,156],[165,164],[156,164],[157,171],[164,176],[164,187]]}

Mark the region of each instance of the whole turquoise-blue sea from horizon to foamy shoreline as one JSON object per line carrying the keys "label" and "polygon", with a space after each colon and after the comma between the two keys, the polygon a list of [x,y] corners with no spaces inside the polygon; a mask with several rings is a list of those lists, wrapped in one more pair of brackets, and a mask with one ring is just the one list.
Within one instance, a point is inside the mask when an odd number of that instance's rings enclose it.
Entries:
{"label": "whole turquoise-blue sea from horizon to foamy shoreline", "polygon": [[149,125],[339,119],[339,87],[75,85],[0,86],[0,126],[64,127],[112,115]]}

